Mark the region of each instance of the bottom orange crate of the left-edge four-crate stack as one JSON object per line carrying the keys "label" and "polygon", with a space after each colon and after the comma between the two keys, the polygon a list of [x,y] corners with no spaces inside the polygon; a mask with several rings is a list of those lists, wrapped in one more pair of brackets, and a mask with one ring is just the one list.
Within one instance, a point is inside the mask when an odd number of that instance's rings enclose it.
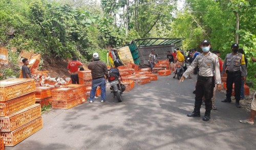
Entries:
{"label": "bottom orange crate of the left-edge four-crate stack", "polygon": [[39,117],[11,132],[1,132],[5,146],[14,146],[42,128],[42,117]]}

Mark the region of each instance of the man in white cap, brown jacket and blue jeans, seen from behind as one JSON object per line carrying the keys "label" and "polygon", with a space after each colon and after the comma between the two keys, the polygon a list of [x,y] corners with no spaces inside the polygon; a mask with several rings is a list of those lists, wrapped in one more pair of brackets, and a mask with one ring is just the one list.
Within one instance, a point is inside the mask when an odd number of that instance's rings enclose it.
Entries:
{"label": "man in white cap, brown jacket and blue jeans, seen from behind", "polygon": [[88,69],[92,70],[92,90],[90,92],[90,103],[93,103],[95,92],[97,87],[100,87],[101,90],[101,102],[104,102],[106,99],[106,78],[109,77],[108,68],[103,61],[99,60],[99,54],[93,53],[93,62],[88,66]]}

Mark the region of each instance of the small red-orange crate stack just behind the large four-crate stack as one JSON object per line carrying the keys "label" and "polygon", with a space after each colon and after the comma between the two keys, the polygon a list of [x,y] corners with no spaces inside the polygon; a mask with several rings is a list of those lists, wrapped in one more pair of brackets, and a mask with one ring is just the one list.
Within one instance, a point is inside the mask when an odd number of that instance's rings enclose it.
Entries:
{"label": "small red-orange crate stack just behind the large four-crate stack", "polygon": [[36,87],[35,89],[35,99],[36,103],[41,106],[45,106],[52,103],[52,90],[51,87]]}

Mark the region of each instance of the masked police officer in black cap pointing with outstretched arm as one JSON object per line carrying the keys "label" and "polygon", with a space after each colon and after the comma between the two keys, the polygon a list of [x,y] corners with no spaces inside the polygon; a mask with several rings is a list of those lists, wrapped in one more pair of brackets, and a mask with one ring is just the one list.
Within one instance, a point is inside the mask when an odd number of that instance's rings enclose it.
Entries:
{"label": "masked police officer in black cap pointing with outstretched arm", "polygon": [[[194,111],[187,114],[187,117],[200,117],[200,108],[202,104],[202,98],[205,97],[205,114],[203,117],[204,121],[210,120],[210,111],[212,109],[211,97],[214,92],[215,84],[217,88],[221,90],[221,74],[219,67],[219,58],[214,53],[210,52],[210,41],[202,40],[200,48],[203,53],[199,54],[188,69],[185,71],[180,79],[180,82],[187,78],[188,75],[199,67],[199,74],[196,84],[196,97],[195,97],[195,108]],[[214,78],[216,76],[216,80]]]}

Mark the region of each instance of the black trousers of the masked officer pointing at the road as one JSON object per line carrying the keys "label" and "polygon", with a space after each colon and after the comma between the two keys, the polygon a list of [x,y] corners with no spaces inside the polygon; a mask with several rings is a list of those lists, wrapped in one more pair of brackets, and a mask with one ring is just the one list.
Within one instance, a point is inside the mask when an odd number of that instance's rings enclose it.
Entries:
{"label": "black trousers of the masked officer pointing at the road", "polygon": [[202,98],[205,97],[205,110],[210,111],[212,108],[211,98],[214,93],[215,79],[214,77],[198,76],[196,84],[196,97],[194,113],[200,114]]}

